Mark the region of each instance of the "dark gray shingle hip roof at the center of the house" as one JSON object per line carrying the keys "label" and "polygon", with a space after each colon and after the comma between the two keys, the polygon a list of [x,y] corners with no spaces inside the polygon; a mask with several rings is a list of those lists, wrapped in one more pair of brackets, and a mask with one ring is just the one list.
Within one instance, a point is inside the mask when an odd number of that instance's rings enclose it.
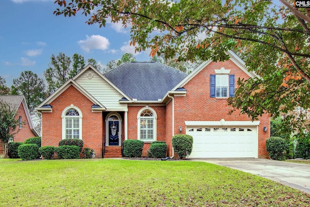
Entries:
{"label": "dark gray shingle hip roof at the center of the house", "polygon": [[157,101],[187,74],[160,63],[132,62],[122,64],[104,76],[130,98]]}

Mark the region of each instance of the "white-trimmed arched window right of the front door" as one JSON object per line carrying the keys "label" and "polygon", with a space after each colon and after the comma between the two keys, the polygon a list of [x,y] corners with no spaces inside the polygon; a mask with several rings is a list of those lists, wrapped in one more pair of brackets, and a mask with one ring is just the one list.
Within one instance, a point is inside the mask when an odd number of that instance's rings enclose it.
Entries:
{"label": "white-trimmed arched window right of the front door", "polygon": [[138,140],[143,142],[156,141],[157,135],[157,113],[149,107],[143,107],[137,114]]}

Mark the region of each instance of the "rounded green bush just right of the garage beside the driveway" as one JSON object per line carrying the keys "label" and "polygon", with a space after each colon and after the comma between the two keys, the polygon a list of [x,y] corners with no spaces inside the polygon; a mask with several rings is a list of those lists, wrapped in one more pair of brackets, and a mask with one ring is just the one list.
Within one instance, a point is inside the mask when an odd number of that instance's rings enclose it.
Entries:
{"label": "rounded green bush just right of the garage beside the driveway", "polygon": [[287,142],[281,137],[270,137],[266,140],[266,149],[271,159],[283,160],[287,150]]}

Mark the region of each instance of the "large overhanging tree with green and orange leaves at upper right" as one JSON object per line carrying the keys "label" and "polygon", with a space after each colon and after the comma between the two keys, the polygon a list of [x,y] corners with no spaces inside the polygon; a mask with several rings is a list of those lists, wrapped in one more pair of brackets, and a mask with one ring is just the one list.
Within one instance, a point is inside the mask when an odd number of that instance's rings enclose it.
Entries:
{"label": "large overhanging tree with green and orange leaves at upper right", "polygon": [[[292,0],[276,5],[266,0],[57,0],[55,15],[90,16],[88,24],[106,19],[131,26],[136,51],[179,61],[223,61],[226,51],[246,54],[249,71],[260,78],[239,80],[235,109],[255,120],[263,113],[278,116],[296,106],[310,107],[309,9],[295,8]],[[295,127],[299,118],[287,116]]]}

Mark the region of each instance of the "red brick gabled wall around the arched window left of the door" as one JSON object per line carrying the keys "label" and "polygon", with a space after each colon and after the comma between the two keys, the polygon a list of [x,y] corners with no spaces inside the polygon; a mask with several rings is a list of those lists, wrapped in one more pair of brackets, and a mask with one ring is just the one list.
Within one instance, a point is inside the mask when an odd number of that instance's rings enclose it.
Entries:
{"label": "red brick gabled wall around the arched window left of the door", "polygon": [[102,157],[104,136],[102,112],[92,112],[92,101],[70,86],[53,100],[53,112],[42,113],[42,145],[58,146],[62,140],[62,111],[73,104],[82,112],[82,140],[84,147],[94,149],[96,158]]}

